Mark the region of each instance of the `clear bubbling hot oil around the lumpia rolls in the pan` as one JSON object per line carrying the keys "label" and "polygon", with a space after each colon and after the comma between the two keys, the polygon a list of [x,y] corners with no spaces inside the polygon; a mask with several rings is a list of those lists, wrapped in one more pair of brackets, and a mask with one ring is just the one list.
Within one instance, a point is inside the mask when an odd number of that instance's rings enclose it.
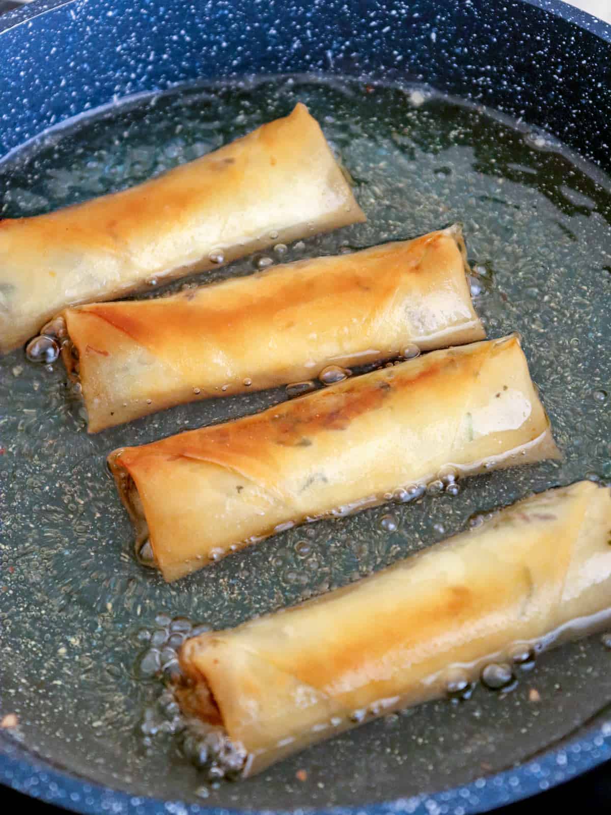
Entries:
{"label": "clear bubbling hot oil around the lumpia rolls in the pan", "polygon": [[[235,625],[366,575],[529,491],[587,474],[611,478],[608,179],[544,134],[424,89],[300,77],[183,89],[77,121],[0,165],[0,214],[37,214],[138,183],[284,115],[297,100],[349,170],[367,224],[276,246],[202,282],[462,221],[477,310],[490,337],[523,334],[565,460],[435,484],[437,494],[417,501],[284,531],[166,585],[134,561],[105,456],[256,411],[284,399],[284,390],[194,403],[88,436],[59,364],[34,366],[21,351],[0,359],[0,709],[19,720],[4,741],[134,794],[196,800],[203,782],[163,735],[171,729],[160,726],[163,716],[141,730],[160,686],[148,676],[156,664],[136,658],[169,636],[170,619]],[[270,192],[262,187],[262,198]],[[158,289],[152,284],[145,296]],[[477,686],[464,703],[389,716],[204,794],[215,805],[289,808],[462,784],[595,716],[611,700],[609,667],[600,637],[565,645],[518,672],[511,693]]]}

